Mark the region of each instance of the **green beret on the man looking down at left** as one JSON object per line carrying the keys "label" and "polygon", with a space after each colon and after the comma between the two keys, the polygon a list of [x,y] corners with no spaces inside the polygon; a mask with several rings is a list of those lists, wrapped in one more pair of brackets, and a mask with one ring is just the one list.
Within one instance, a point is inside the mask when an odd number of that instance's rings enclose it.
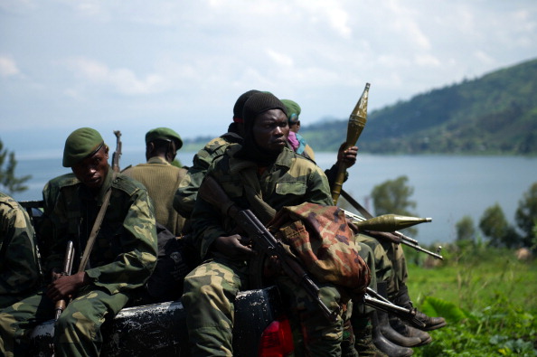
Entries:
{"label": "green beret on the man looking down at left", "polygon": [[72,167],[89,155],[97,153],[104,145],[99,132],[90,127],[80,127],[65,140],[63,148],[63,167]]}

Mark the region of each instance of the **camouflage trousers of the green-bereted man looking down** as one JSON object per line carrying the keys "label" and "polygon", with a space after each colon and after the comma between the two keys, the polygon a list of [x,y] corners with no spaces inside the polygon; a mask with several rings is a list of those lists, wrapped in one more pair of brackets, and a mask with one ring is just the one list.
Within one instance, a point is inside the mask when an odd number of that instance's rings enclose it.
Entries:
{"label": "camouflage trousers of the green-bereted man looking down", "polygon": [[[125,294],[110,295],[95,286],[83,287],[56,321],[55,356],[98,356],[102,346],[100,326],[127,305]],[[41,292],[5,308],[0,313],[0,352],[24,355],[33,327],[54,317],[54,304]]]}

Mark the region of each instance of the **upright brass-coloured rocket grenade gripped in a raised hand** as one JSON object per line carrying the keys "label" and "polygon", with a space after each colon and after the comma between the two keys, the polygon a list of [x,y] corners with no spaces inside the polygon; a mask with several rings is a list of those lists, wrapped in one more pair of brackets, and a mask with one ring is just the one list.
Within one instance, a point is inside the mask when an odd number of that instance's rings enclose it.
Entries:
{"label": "upright brass-coloured rocket grenade gripped in a raised hand", "polygon": [[[344,150],[356,145],[358,138],[362,135],[363,127],[367,122],[367,100],[369,96],[369,83],[365,84],[365,89],[363,89],[362,97],[358,99],[356,106],[349,117],[349,124],[347,126],[347,139],[344,144]],[[339,199],[339,194],[341,193],[341,188],[344,183],[345,173],[347,168],[343,161],[338,164],[337,174],[335,176],[334,187],[332,188],[332,200],[334,200],[334,205]]]}

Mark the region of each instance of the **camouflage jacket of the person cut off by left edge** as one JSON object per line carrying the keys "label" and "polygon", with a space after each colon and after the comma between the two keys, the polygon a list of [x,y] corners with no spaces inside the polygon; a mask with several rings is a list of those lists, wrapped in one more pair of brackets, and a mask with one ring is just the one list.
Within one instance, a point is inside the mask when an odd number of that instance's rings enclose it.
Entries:
{"label": "camouflage jacket of the person cut off by left edge", "polygon": [[35,294],[41,282],[32,222],[18,202],[0,193],[0,310]]}

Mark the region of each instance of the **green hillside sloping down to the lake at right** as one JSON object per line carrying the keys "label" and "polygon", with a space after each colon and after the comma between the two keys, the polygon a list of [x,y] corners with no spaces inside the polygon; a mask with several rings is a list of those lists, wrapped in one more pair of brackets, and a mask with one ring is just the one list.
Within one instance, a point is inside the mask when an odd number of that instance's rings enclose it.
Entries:
{"label": "green hillside sloping down to the lake at right", "polygon": [[[316,151],[336,150],[347,120],[303,127],[300,134]],[[382,154],[535,155],[537,60],[372,111],[358,146]]]}

